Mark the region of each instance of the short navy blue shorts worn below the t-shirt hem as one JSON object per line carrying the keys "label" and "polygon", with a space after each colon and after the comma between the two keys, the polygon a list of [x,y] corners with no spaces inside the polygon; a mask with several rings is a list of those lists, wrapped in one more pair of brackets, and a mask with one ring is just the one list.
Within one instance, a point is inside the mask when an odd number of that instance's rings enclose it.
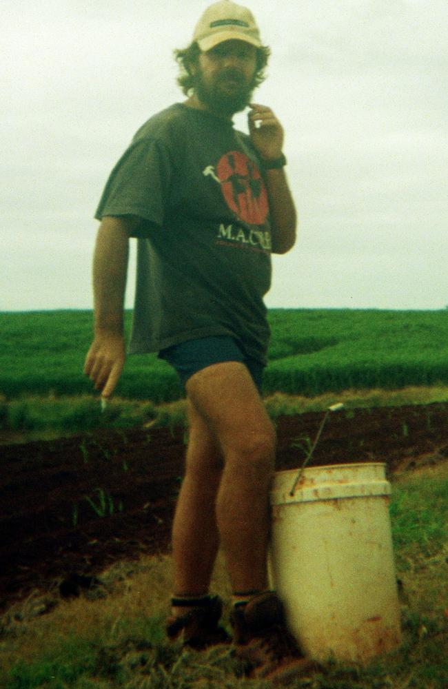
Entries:
{"label": "short navy blue shorts worn below the t-shirt hem", "polygon": [[249,369],[250,375],[261,393],[264,364],[245,356],[238,342],[228,335],[218,335],[199,340],[187,340],[180,345],[162,349],[159,357],[172,365],[185,385],[188,378],[212,364],[224,361],[241,361]]}

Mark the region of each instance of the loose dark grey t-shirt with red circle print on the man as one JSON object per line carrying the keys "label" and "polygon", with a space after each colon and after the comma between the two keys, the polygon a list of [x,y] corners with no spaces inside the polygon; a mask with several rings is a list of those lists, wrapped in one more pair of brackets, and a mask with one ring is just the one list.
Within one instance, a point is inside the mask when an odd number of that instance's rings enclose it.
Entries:
{"label": "loose dark grey t-shirt with red circle print on the man", "polygon": [[156,114],[112,170],[95,217],[123,215],[145,220],[130,352],[230,335],[266,362],[271,233],[250,138],[182,103]]}

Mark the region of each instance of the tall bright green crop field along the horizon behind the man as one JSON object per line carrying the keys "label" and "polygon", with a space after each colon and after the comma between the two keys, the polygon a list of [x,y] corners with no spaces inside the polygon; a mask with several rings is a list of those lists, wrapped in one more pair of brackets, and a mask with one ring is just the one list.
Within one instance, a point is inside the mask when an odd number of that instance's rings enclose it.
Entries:
{"label": "tall bright green crop field along the horizon behind the man", "polygon": [[[448,311],[272,309],[269,322],[266,395],[448,383]],[[0,393],[91,393],[82,373],[91,331],[91,311],[0,313]],[[152,354],[128,358],[116,395],[159,404],[182,391]]]}

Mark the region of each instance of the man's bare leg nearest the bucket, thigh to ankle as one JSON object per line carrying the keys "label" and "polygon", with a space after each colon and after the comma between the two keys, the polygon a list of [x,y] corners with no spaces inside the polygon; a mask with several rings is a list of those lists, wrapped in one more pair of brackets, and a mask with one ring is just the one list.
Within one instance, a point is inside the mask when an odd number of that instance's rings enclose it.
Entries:
{"label": "man's bare leg nearest the bucket, thigh to ankle", "polygon": [[198,371],[187,382],[187,396],[223,452],[216,520],[232,588],[264,590],[274,428],[249,371],[240,362]]}

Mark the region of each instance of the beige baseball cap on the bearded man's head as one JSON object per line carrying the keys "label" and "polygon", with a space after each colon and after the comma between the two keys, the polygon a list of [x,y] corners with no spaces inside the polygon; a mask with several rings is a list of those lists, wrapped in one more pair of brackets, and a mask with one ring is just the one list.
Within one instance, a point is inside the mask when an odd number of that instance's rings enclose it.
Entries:
{"label": "beige baseball cap on the bearded man's head", "polygon": [[218,43],[235,40],[260,48],[260,31],[252,12],[232,0],[220,0],[207,7],[196,24],[193,42],[197,41],[199,48],[207,52]]}

